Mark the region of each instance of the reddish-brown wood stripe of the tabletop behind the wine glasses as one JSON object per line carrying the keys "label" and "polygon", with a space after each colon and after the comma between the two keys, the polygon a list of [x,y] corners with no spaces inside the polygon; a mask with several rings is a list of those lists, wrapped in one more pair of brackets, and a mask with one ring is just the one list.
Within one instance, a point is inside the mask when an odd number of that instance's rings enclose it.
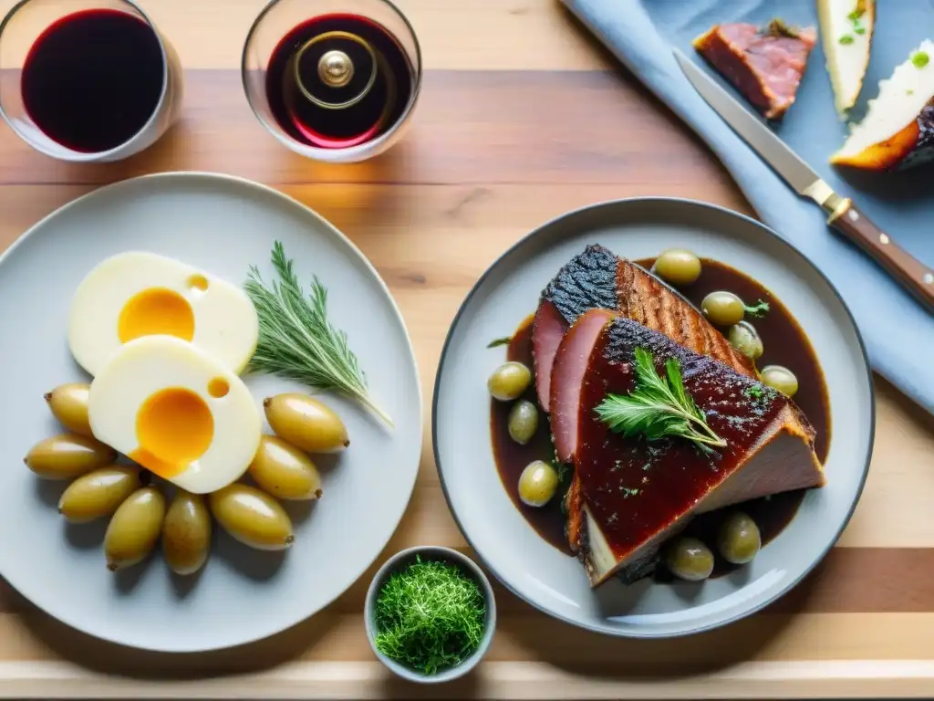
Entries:
{"label": "reddish-brown wood stripe of the tabletop behind the wine glasses", "polygon": [[600,71],[429,71],[404,140],[358,165],[322,165],[280,146],[233,70],[188,71],[181,121],[118,164],[57,162],[0,126],[0,183],[99,184],[165,170],[280,184],[729,181],[634,80]]}

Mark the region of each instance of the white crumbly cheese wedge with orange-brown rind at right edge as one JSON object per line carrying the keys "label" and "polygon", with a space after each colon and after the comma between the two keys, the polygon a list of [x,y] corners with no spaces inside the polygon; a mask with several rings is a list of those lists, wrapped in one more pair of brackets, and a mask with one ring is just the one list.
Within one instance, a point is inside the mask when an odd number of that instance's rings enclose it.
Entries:
{"label": "white crumbly cheese wedge with orange-brown rind at right edge", "polygon": [[868,107],[831,164],[892,170],[934,159],[934,41],[922,42],[881,81]]}

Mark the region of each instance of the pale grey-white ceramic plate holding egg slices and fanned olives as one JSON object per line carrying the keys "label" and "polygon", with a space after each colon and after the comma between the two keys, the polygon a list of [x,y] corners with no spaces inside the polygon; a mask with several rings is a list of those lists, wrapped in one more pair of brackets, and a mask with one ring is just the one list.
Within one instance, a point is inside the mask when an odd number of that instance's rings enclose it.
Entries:
{"label": "pale grey-white ceramic plate holding egg slices and fanned olives", "polygon": [[[278,239],[304,284],[317,274],[329,314],[347,331],[389,430],[332,394],[350,449],[323,467],[323,498],[289,505],[295,543],[251,551],[215,531],[197,578],[174,577],[161,557],[118,576],[102,551],[106,523],[68,526],[56,513],[63,485],[37,479],[22,456],[59,433],[42,394],[87,381],[65,331],[71,295],[107,256],[151,250],[235,284],[250,265],[272,279]],[[315,212],[247,180],[166,174],[98,190],[33,227],[0,258],[0,574],[36,606],[93,636],[156,651],[246,643],[300,622],[371,565],[402,518],[421,452],[421,393],[411,343],[386,285],[350,241]],[[256,401],[301,386],[248,378]],[[268,432],[268,426],[266,427]]]}

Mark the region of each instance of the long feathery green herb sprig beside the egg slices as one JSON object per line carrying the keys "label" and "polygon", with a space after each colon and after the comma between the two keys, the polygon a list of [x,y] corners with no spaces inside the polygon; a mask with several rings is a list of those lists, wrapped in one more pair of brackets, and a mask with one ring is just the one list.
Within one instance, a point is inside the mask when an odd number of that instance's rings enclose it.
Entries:
{"label": "long feathery green herb sprig beside the egg slices", "polygon": [[391,426],[392,420],[367,393],[366,377],[347,347],[347,335],[328,320],[327,289],[315,278],[305,297],[278,241],[272,261],[279,277],[276,282],[267,287],[253,265],[244,285],[260,317],[260,341],[250,369],[346,394]]}

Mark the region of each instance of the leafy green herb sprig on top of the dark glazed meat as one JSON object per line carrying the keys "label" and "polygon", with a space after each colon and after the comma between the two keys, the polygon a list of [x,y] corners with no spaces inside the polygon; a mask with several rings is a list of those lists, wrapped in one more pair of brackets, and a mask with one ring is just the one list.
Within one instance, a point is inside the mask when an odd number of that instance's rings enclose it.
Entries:
{"label": "leafy green herb sprig on top of the dark glazed meat", "polygon": [[607,394],[595,409],[612,431],[623,436],[645,436],[650,441],[682,437],[706,452],[710,451],[709,446],[727,445],[707,425],[707,418],[687,393],[676,359],[665,362],[665,375],[661,377],[652,354],[637,348],[633,369],[635,390],[625,396]]}

